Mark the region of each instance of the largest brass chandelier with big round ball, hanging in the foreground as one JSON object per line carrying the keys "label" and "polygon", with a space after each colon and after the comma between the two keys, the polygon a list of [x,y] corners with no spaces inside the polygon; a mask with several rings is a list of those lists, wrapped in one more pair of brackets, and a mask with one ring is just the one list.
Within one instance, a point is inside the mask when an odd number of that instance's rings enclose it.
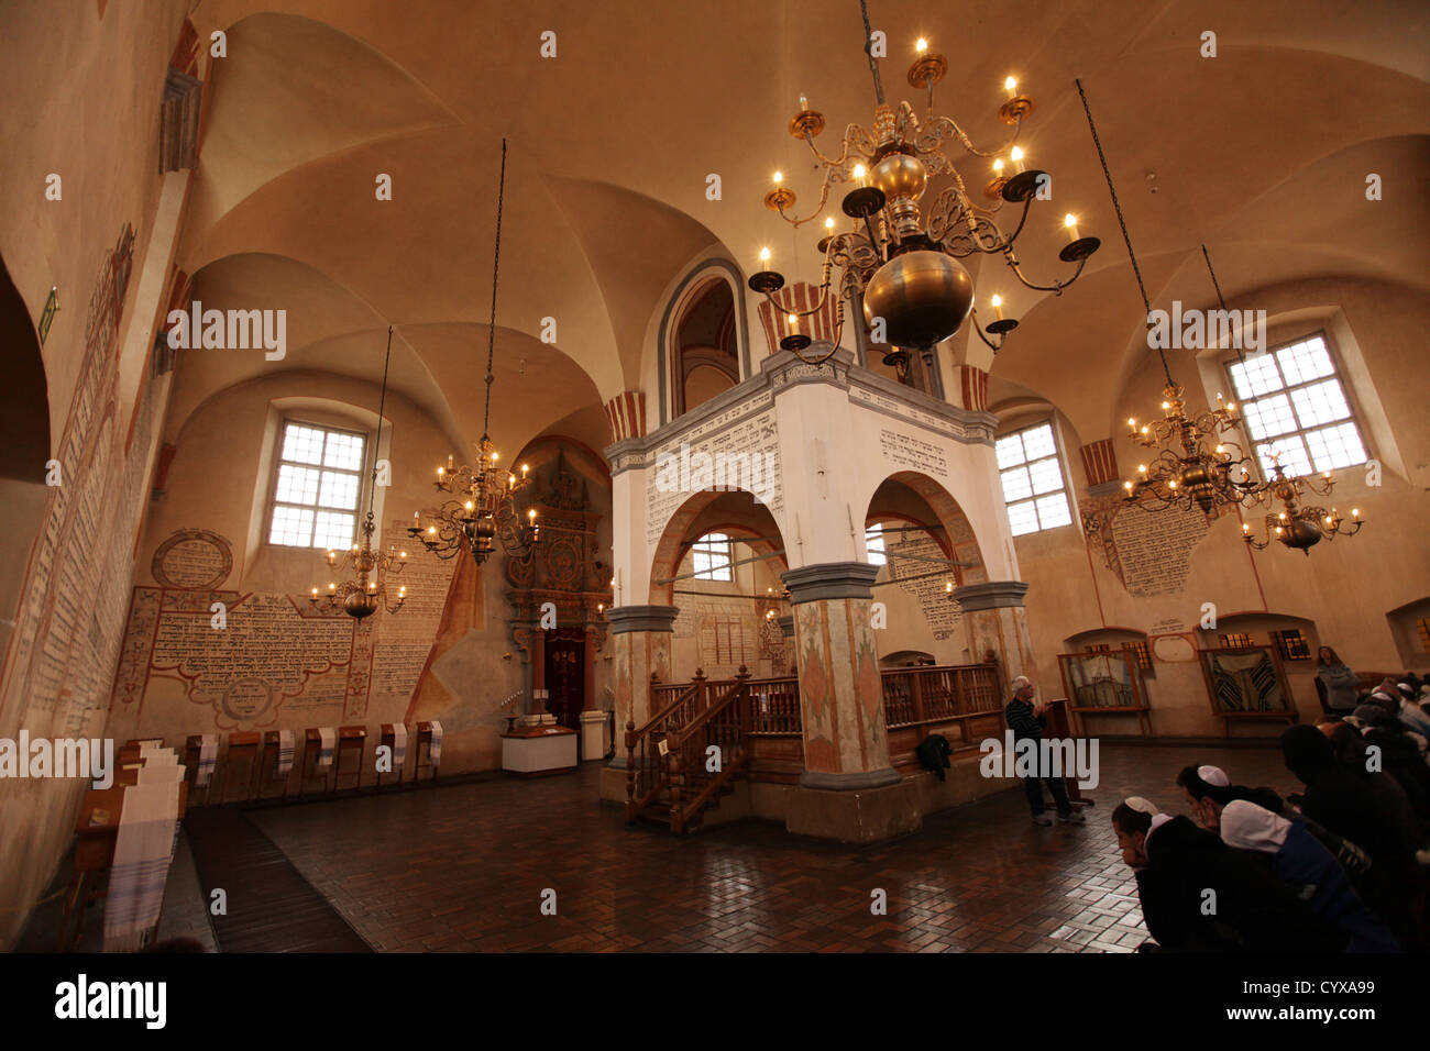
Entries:
{"label": "largest brass chandelier with big round ball, hanging in the foreground", "polygon": [[[825,219],[825,236],[819,240],[824,265],[819,276],[818,302],[808,309],[795,309],[775,299],[774,293],[784,287],[782,275],[771,269],[769,250],[761,252],[761,269],[749,279],[749,287],[765,296],[772,309],[785,317],[788,335],[779,346],[792,350],[809,363],[827,360],[839,345],[844,330],[844,300],[862,300],[864,320],[875,333],[877,342],[899,347],[885,359],[902,375],[908,362],[908,349],[932,353],[937,343],[952,336],[972,313],[974,327],[980,339],[997,350],[1004,336],[1018,326],[1011,317],[1004,317],[1001,300],[994,297],[997,319],[981,327],[974,310],[974,285],[960,259],[975,253],[1001,255],[1014,276],[1030,289],[1061,295],[1062,289],[1077,280],[1088,257],[1097,250],[1097,237],[1080,236],[1072,216],[1065,219],[1068,243],[1058,253],[1075,269],[1067,280],[1052,285],[1037,285],[1021,270],[1014,242],[1028,219],[1028,209],[1040,187],[1047,184],[1045,172],[1027,167],[1024,153],[1014,146],[1024,117],[1034,110],[1034,100],[1020,94],[1017,82],[1011,77],[1004,83],[1008,100],[998,110],[998,119],[1012,127],[1010,140],[998,150],[981,150],[964,130],[947,116],[934,113],[934,86],[948,71],[948,60],[928,50],[924,40],[918,41],[914,64],[908,70],[908,83],[925,89],[927,107],[919,117],[915,109],[899,102],[895,109],[885,102],[879,67],[872,53],[872,31],[864,0],[859,0],[864,14],[864,51],[868,56],[869,73],[874,79],[874,126],[872,132],[861,124],[845,129],[838,156],[825,156],[815,137],[824,130],[824,114],[811,110],[801,97],[799,112],[789,120],[789,134],[804,139],[814,153],[824,177],[819,187],[819,202],[807,216],[789,213],[795,193],[784,184],[782,173],[775,173],[775,187],[765,194],[765,206],[798,227],[818,217],[828,203],[835,186],[847,186],[841,210],[848,217],[847,229],[838,229],[835,219]],[[970,199],[962,176],[944,154],[944,146],[957,140],[964,150],[978,157],[997,157],[1008,152],[1014,173],[1001,176],[1002,160],[995,163],[998,177],[987,187],[987,196],[997,202],[992,206],[978,206]],[[924,192],[930,179],[947,176],[950,184],[940,190],[927,204],[927,219],[921,212]],[[1004,204],[1022,206],[1017,213],[1017,224],[1005,233],[994,216]],[[832,270],[841,270],[838,287],[832,283]],[[805,319],[825,309],[829,295],[837,300],[837,333],[828,352],[807,356],[805,347],[812,343],[812,325]],[[882,319],[882,326],[877,325]],[[879,327],[884,329],[879,339]],[[988,339],[992,333],[997,342]]]}

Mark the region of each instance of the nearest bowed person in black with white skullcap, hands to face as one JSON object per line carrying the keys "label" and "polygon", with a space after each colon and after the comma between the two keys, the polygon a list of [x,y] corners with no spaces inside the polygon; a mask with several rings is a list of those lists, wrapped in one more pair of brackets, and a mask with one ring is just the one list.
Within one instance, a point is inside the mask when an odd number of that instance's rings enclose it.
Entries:
{"label": "nearest bowed person in black with white skullcap, hands to face", "polygon": [[1123,859],[1145,862],[1145,877],[1138,874],[1143,918],[1164,949],[1343,951],[1344,935],[1276,877],[1190,818],[1153,816],[1123,804],[1113,811],[1113,827]]}

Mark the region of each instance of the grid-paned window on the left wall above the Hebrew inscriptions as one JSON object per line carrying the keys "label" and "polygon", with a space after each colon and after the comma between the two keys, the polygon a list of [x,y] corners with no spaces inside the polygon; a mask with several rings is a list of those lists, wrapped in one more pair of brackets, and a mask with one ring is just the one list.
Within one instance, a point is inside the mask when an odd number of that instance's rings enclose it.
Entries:
{"label": "grid-paned window on the left wall above the Hebrew inscriptions", "polygon": [[368,436],[285,420],[273,475],[269,543],[350,548],[358,539]]}

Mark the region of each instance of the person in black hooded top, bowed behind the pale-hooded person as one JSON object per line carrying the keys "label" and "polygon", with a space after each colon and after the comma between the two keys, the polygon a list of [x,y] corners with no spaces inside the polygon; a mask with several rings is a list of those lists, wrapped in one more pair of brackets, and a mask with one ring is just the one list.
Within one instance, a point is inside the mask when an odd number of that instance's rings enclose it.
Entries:
{"label": "person in black hooded top, bowed behind the pale-hooded person", "polygon": [[[1379,915],[1391,934],[1414,942],[1411,922],[1411,892],[1414,888],[1414,822],[1410,804],[1400,791],[1400,806],[1390,799],[1400,789],[1384,774],[1366,775],[1336,762],[1331,742],[1316,726],[1288,726],[1281,734],[1281,755],[1286,768],[1306,785],[1297,801],[1301,814],[1324,825],[1340,837],[1360,845],[1370,855],[1370,871],[1357,881],[1366,904]],[[1380,791],[1373,791],[1370,776],[1377,778]],[[1394,788],[1387,788],[1381,778]],[[1383,806],[1381,801],[1390,805]]]}

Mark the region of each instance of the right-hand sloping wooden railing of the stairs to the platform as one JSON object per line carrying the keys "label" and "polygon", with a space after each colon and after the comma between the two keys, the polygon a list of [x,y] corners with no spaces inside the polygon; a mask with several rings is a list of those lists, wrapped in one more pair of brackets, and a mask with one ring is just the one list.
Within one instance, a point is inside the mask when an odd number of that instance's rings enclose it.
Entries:
{"label": "right-hand sloping wooden railing of the stairs to the platform", "polygon": [[[669,736],[671,831],[684,832],[698,821],[724,788],[749,761],[749,669],[744,665],[735,684]],[[709,749],[718,751],[712,756]],[[718,769],[708,764],[718,758]]]}

